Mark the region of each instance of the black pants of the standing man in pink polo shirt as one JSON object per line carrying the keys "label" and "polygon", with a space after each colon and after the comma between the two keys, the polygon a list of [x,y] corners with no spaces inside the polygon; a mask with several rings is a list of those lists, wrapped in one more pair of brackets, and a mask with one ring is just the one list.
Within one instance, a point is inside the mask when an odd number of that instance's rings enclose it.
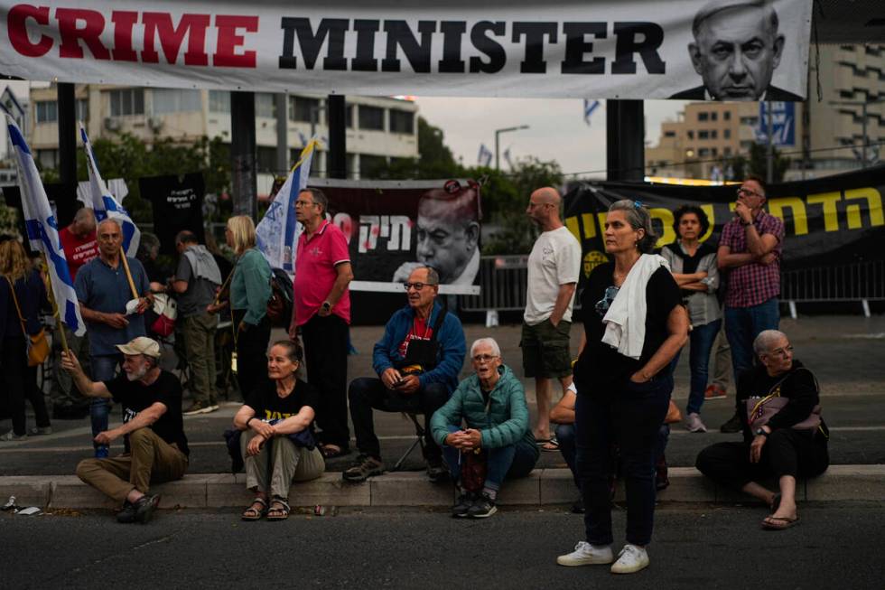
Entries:
{"label": "black pants of the standing man in pink polo shirt", "polygon": [[314,315],[302,325],[301,333],[307,380],[320,393],[316,408],[320,440],[348,449],[348,324],[335,314]]}

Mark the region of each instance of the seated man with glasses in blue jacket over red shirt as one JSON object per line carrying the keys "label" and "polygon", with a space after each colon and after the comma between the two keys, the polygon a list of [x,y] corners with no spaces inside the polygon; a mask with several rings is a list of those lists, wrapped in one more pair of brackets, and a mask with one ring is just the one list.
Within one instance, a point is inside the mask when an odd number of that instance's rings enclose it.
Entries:
{"label": "seated man with glasses in blue jacket over red shirt", "polygon": [[350,417],[359,456],[341,474],[345,481],[362,482],[384,473],[373,407],[424,414],[427,475],[432,482],[446,476],[442,450],[430,433],[430,417],[458,386],[466,345],[461,322],[436,303],[439,283],[432,267],[412,271],[405,283],[408,305],[393,314],[375,344],[372,364],[379,379],[364,377],[350,383]]}

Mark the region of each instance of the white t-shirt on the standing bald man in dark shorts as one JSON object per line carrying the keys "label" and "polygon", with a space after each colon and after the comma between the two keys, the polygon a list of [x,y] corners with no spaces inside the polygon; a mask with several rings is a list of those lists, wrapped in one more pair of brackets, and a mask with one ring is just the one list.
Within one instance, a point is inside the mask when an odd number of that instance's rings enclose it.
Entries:
{"label": "white t-shirt on the standing bald man in dark shorts", "polygon": [[[544,322],[553,314],[559,287],[577,283],[581,273],[581,244],[565,226],[542,233],[528,257],[526,313],[528,325]],[[574,295],[563,320],[572,321]]]}

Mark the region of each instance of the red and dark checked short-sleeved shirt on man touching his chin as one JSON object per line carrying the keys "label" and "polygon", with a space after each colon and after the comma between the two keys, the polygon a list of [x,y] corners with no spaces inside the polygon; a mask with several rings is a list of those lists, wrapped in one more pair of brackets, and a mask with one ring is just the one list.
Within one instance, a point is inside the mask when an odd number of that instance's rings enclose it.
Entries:
{"label": "red and dark checked short-sleeved shirt on man touching his chin", "polygon": [[[784,222],[761,211],[753,220],[753,225],[756,226],[759,237],[771,234],[778,239],[778,245],[772,250],[775,261],[770,265],[750,262],[742,267],[731,268],[728,276],[728,292],[725,295],[726,307],[750,307],[780,295],[780,257],[784,242]],[[749,252],[747,229],[741,225],[740,220],[734,219],[725,224],[719,245],[731,248],[731,254]]]}

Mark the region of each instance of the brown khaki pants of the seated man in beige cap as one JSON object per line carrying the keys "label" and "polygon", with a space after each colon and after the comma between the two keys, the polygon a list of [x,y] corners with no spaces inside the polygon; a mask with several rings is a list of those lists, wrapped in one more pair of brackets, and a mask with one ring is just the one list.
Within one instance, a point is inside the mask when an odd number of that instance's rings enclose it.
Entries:
{"label": "brown khaki pants of the seated man in beige cap", "polygon": [[187,456],[150,428],[130,433],[129,446],[128,454],[80,461],[77,477],[122,504],[133,489],[147,493],[151,483],[180,480],[187,471]]}

